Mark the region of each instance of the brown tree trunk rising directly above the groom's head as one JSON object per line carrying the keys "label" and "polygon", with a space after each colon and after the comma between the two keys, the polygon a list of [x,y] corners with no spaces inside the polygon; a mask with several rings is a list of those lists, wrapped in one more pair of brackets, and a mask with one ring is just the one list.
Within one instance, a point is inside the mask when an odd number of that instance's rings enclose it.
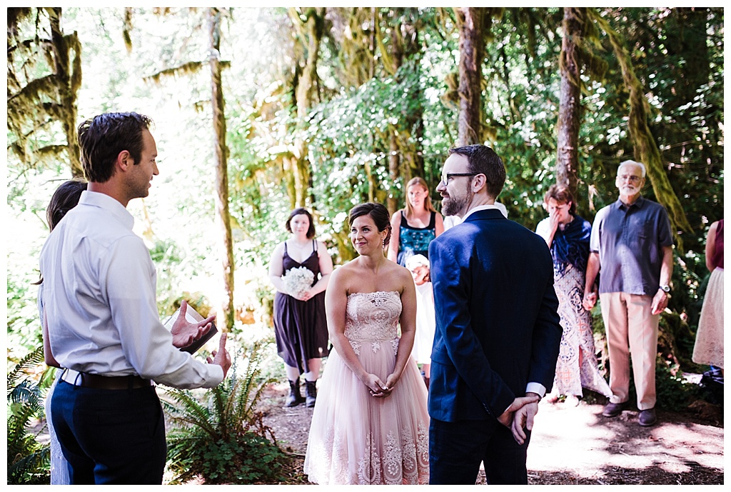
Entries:
{"label": "brown tree trunk rising directly above the groom's head", "polygon": [[459,28],[459,117],[457,145],[482,143],[482,7],[455,7]]}

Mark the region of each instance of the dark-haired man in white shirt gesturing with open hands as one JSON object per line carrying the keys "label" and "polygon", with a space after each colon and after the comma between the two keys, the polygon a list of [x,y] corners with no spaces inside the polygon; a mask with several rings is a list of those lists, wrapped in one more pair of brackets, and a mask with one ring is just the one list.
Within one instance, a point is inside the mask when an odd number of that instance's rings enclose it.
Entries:
{"label": "dark-haired man in white shirt gesturing with open hands", "polygon": [[106,113],[79,126],[88,191],[51,232],[40,270],[50,349],[67,368],[51,418],[72,484],[162,484],[166,444],[154,382],[214,387],[231,366],[225,334],[208,363],[181,352],[212,318],[159,319],[156,272],[129,200],[158,174],[151,120]]}

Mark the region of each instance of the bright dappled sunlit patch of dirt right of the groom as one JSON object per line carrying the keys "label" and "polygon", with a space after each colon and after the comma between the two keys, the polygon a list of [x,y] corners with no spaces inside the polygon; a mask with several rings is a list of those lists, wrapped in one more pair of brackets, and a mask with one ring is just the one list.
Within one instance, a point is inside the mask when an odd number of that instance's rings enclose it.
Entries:
{"label": "bright dappled sunlit patch of dirt right of the groom", "polygon": [[577,478],[597,483],[620,470],[641,474],[650,468],[668,474],[703,469],[722,476],[723,428],[663,422],[662,412],[658,425],[643,428],[637,423],[638,413],[626,410],[610,419],[602,416],[601,405],[540,404],[528,449],[529,471],[570,470]]}

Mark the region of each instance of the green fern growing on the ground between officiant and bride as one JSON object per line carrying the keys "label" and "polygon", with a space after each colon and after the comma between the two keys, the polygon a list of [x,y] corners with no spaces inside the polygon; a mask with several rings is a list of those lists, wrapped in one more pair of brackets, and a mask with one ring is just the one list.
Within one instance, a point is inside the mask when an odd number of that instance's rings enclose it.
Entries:
{"label": "green fern growing on the ground between officiant and bride", "polygon": [[261,483],[278,480],[288,458],[256,406],[275,379],[261,377],[262,342],[239,350],[227,379],[197,399],[191,390],[170,390],[162,404],[173,425],[167,437],[173,483],[197,475],[206,483]]}

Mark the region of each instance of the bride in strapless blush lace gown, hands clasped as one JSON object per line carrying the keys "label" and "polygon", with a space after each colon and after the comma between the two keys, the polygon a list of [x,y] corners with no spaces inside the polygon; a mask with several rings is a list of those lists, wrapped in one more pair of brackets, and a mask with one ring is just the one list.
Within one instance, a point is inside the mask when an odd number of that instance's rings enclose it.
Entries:
{"label": "bride in strapless blush lace gown, hands clasped", "polygon": [[349,224],[359,256],[332,273],[325,294],[334,350],[320,379],[304,472],[321,485],[426,484],[427,391],[411,357],[414,280],[384,256],[391,231],[383,205],[356,205]]}

